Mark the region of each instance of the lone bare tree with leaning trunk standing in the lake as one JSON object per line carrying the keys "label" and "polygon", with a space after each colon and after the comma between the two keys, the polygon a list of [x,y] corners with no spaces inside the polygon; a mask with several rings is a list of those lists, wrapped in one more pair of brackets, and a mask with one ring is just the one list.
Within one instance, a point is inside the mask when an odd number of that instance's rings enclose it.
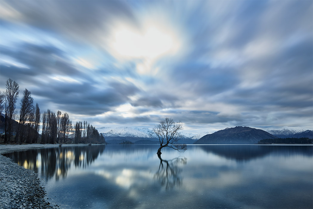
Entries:
{"label": "lone bare tree with leaning trunk standing in the lake", "polygon": [[153,132],[156,133],[160,141],[160,148],[156,153],[158,156],[162,154],[161,149],[163,147],[171,147],[179,152],[185,152],[187,145],[177,143],[180,138],[178,131],[182,129],[182,123],[174,122],[172,118],[165,118],[153,128]]}

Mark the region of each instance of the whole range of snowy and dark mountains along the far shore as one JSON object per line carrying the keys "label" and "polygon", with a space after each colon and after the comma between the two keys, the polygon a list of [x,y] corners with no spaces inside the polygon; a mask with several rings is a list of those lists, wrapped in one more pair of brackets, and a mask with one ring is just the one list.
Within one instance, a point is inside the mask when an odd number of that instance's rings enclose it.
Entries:
{"label": "whole range of snowy and dark mountains along the far shore", "polygon": [[[280,129],[267,129],[269,132],[250,127],[237,126],[225,128],[217,132],[202,132],[199,134],[181,133],[181,144],[257,144],[265,138],[313,138],[313,131],[300,127],[282,127]],[[304,130],[304,131],[303,131]],[[130,127],[103,127],[98,128],[103,133],[106,142],[119,144],[130,141],[134,144],[159,144],[156,134],[149,128]],[[274,133],[274,134],[273,134]],[[203,138],[204,137],[204,138]],[[265,137],[265,138],[264,138]],[[205,139],[206,138],[206,139]],[[201,139],[200,141],[197,141]],[[205,140],[204,140],[205,139]]]}

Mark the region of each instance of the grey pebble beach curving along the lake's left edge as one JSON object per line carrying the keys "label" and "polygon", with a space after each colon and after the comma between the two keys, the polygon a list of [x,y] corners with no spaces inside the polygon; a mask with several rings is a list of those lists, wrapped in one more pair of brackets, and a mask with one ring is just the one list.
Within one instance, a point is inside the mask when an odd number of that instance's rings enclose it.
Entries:
{"label": "grey pebble beach curving along the lake's left edge", "polygon": [[[62,146],[87,146],[88,144],[62,144]],[[46,200],[44,180],[36,172],[28,170],[2,154],[58,147],[59,144],[1,144],[0,145],[0,209],[11,208],[59,208]]]}

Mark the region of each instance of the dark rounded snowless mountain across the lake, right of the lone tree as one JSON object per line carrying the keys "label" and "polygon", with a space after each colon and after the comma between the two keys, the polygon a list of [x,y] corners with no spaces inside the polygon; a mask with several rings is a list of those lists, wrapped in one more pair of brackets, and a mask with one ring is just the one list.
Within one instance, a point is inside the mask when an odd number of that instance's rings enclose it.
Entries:
{"label": "dark rounded snowless mountain across the lake, right of the lone tree", "polygon": [[261,129],[236,126],[201,137],[194,144],[257,144],[265,138],[277,138]]}

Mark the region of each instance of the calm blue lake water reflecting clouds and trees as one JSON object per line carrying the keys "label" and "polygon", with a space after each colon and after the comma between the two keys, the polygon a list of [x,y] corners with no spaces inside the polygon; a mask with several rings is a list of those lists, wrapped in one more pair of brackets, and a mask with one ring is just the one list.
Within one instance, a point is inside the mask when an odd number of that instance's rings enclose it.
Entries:
{"label": "calm blue lake water reflecting clouds and trees", "polygon": [[[6,154],[61,208],[312,208],[313,146],[99,145]],[[51,198],[51,200],[50,200]]]}

